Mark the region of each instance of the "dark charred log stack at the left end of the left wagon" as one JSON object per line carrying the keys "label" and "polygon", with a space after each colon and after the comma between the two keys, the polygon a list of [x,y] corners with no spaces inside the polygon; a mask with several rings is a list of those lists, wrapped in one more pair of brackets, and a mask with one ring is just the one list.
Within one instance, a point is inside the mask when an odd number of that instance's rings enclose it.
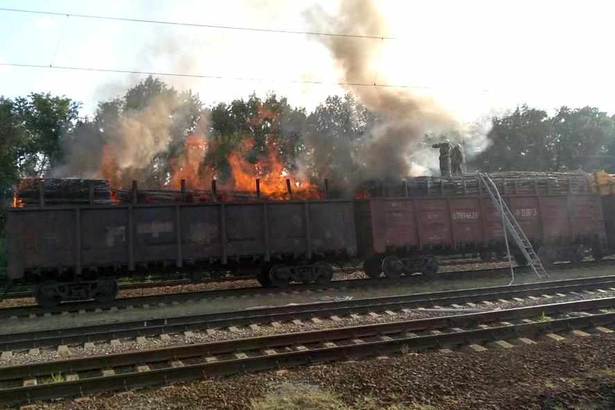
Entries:
{"label": "dark charred log stack at the left end of the left wagon", "polygon": [[78,178],[24,178],[15,200],[21,206],[113,203],[108,180]]}

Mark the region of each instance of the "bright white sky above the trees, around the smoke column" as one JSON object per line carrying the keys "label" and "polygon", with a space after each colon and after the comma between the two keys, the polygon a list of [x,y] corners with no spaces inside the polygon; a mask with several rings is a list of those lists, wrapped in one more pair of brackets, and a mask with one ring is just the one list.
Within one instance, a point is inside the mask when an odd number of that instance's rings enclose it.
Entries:
{"label": "bright white sky above the trees, around the smoke column", "polygon": [[[359,1],[359,0],[357,0]],[[375,62],[378,83],[427,87],[462,121],[521,103],[553,109],[595,105],[615,112],[615,2],[376,0],[389,19]],[[303,11],[334,0],[0,0],[0,8],[310,31]],[[205,103],[268,90],[308,109],[335,85],[328,51],[310,35],[256,33],[49,17],[0,11],[0,62],[164,71],[276,81],[163,78],[198,92]],[[380,40],[361,40],[365,42]],[[65,94],[92,112],[142,76],[0,66],[0,94]],[[373,78],[357,78],[372,83]]]}

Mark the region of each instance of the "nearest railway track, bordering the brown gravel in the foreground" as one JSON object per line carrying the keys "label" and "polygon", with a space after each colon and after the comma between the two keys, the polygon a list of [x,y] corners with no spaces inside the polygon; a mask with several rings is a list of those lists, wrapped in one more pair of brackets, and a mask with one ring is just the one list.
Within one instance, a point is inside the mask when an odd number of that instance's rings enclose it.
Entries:
{"label": "nearest railway track, bordering the brown gravel in the foreground", "polygon": [[[171,382],[302,366],[402,350],[534,343],[547,335],[612,332],[615,298],[413,321],[276,334],[0,368],[0,404],[19,404]],[[587,335],[584,332],[578,334]]]}

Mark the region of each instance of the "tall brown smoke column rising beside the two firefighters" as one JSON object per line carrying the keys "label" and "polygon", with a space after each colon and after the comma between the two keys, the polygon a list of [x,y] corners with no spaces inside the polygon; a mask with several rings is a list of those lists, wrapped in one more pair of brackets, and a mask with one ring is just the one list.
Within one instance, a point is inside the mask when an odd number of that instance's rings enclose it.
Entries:
{"label": "tall brown smoke column rising beside the two firefighters", "polygon": [[[385,17],[372,0],[343,0],[339,15],[335,17],[326,15],[319,8],[310,10],[306,17],[314,31],[383,36],[388,31]],[[317,38],[328,47],[339,65],[341,82],[373,83],[382,40],[335,36]],[[383,68],[386,67],[380,67]],[[413,165],[410,155],[426,133],[440,134],[458,128],[455,119],[432,99],[414,95],[408,89],[362,85],[347,85],[345,88],[380,119],[355,144],[355,163],[347,171],[353,173],[358,168],[361,178],[409,176]],[[328,151],[328,148],[325,146],[323,150]],[[314,155],[314,158],[322,156]]]}

